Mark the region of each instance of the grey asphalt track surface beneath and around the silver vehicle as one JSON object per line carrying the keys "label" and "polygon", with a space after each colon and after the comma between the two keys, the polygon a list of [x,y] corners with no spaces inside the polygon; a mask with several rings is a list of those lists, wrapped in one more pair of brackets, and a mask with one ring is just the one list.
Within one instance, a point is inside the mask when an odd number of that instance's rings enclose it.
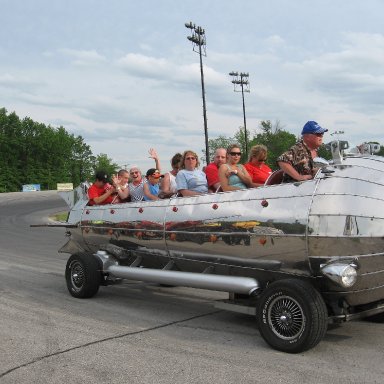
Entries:
{"label": "grey asphalt track surface beneath and around the silver vehicle", "polygon": [[69,295],[54,191],[0,194],[0,383],[382,383],[384,325],[329,329],[314,349],[272,350],[225,293],[127,281]]}

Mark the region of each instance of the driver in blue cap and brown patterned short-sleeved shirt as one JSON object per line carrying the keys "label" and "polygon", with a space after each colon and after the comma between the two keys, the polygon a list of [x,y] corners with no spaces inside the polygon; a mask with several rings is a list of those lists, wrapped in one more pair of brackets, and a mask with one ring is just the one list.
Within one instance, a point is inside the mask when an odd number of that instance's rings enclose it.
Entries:
{"label": "driver in blue cap and brown patterned short-sleeved shirt", "polygon": [[302,139],[277,159],[277,164],[284,171],[283,183],[313,178],[317,171],[313,159],[317,157],[317,150],[323,143],[324,132],[327,131],[316,121],[308,121],[304,125]]}

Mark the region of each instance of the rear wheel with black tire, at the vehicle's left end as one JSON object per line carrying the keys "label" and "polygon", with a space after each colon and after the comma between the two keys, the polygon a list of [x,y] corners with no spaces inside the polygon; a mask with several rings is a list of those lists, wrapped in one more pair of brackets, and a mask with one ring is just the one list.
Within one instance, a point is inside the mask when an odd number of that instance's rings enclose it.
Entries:
{"label": "rear wheel with black tire, at the vehicle's left end", "polygon": [[73,297],[85,299],[96,295],[101,279],[100,262],[90,254],[72,255],[65,267],[65,280]]}

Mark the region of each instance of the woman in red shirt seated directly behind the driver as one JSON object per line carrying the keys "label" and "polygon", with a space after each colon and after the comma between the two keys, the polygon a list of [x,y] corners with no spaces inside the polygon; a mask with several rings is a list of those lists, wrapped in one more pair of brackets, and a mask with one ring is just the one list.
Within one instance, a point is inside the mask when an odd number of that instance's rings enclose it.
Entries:
{"label": "woman in red shirt seated directly behind the driver", "polygon": [[244,168],[248,171],[252,178],[252,187],[260,187],[264,185],[272,169],[265,164],[267,160],[267,147],[265,145],[254,145],[251,148],[248,163],[244,164]]}

